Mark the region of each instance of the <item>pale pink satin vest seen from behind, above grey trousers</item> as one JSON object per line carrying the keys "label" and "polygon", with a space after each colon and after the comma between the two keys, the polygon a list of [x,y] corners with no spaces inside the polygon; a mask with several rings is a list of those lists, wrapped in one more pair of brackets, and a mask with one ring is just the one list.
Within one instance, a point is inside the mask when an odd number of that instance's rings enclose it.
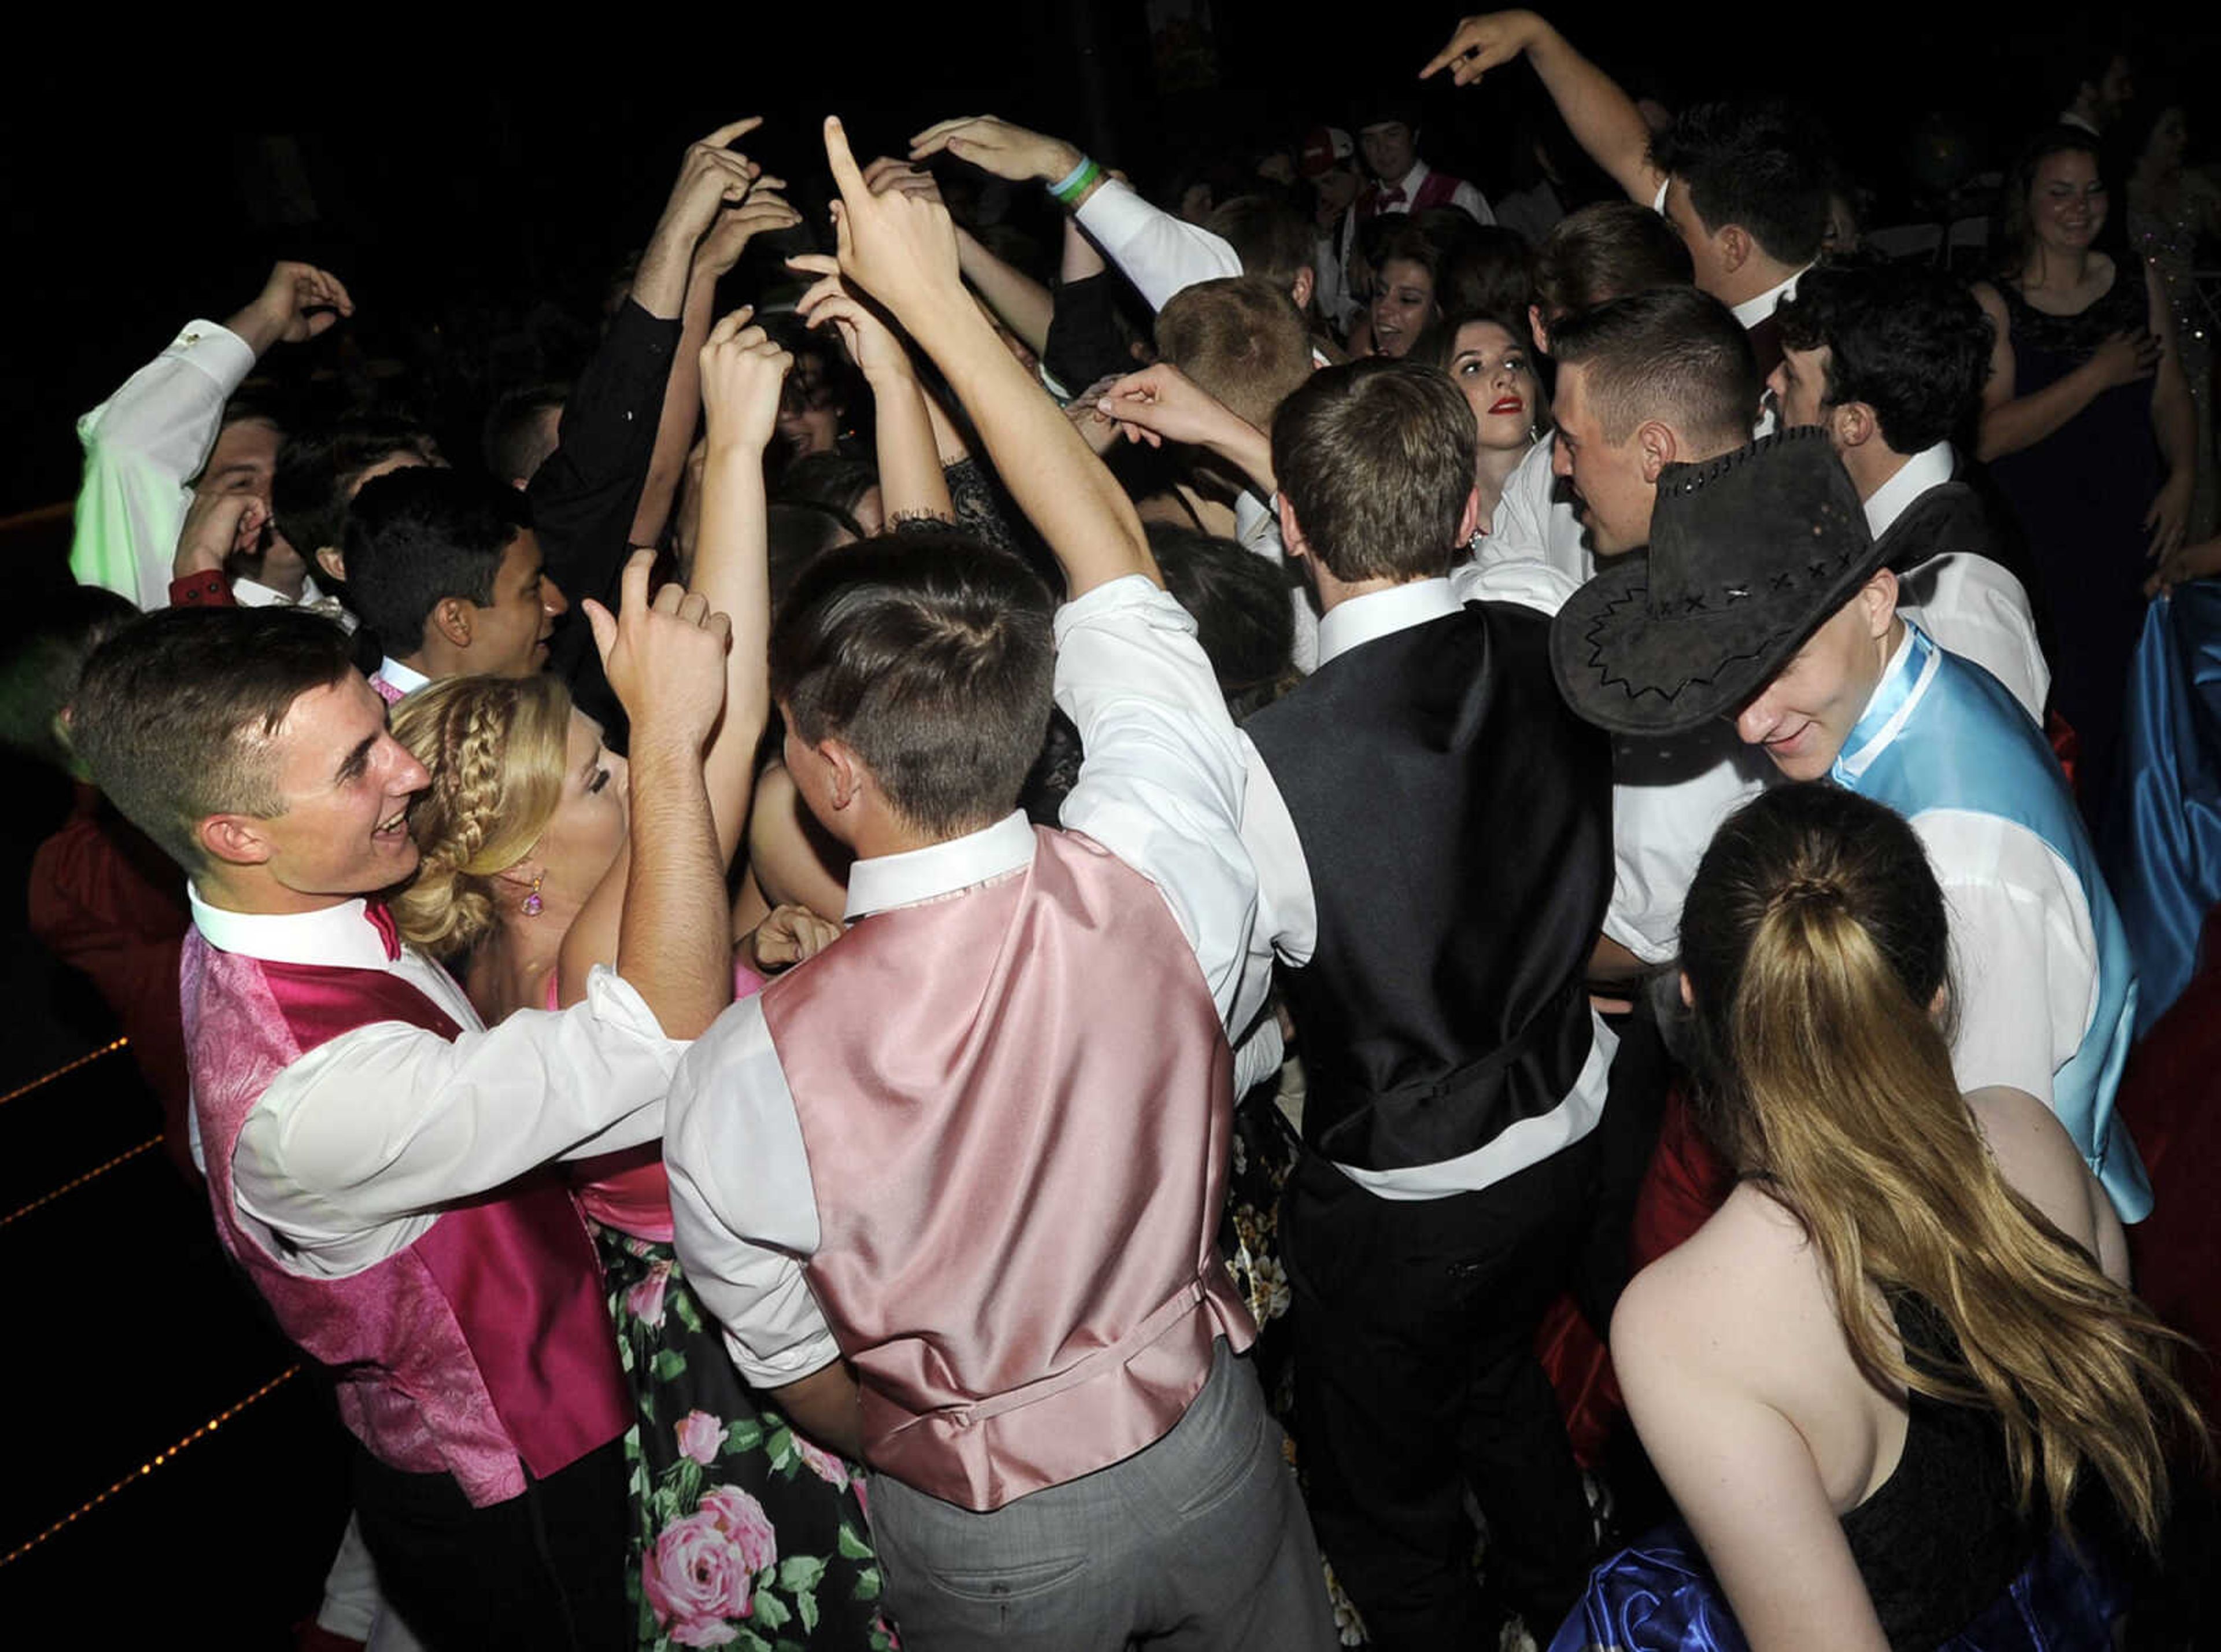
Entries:
{"label": "pale pink satin vest seen from behind, above grey trousers", "polygon": [[1195,953],[1099,844],[1035,844],[764,988],[864,1454],[975,1510],[1162,1439],[1213,1341],[1257,1334],[1215,1241],[1233,1057]]}

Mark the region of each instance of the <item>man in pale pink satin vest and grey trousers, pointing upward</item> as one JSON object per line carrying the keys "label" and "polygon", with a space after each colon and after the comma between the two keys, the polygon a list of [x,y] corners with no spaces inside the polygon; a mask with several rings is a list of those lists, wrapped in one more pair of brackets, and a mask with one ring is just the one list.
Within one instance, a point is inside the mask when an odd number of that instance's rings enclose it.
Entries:
{"label": "man in pale pink satin vest and grey trousers, pointing upward", "polygon": [[[948,535],[820,557],[773,637],[786,766],[853,928],[682,1061],[680,1255],[742,1372],[871,1468],[908,1648],[1330,1648],[1215,1246],[1228,1026],[1264,1008],[1242,748],[1110,473],[979,318],[946,211],[871,195],[842,273],[924,346],[1068,602]],[[1068,830],[1017,813],[1051,695]]]}

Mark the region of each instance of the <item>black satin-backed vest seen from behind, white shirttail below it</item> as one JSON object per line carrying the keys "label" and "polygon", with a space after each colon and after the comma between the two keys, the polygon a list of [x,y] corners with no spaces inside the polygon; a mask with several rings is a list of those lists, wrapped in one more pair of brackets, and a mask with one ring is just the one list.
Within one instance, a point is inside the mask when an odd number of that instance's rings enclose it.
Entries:
{"label": "black satin-backed vest seen from behind, white shirttail below it", "polygon": [[1397,1170],[1557,1108],[1588,1061],[1612,748],[1557,693],[1550,622],[1468,604],[1350,648],[1248,722],[1319,913],[1282,990],[1304,1139]]}

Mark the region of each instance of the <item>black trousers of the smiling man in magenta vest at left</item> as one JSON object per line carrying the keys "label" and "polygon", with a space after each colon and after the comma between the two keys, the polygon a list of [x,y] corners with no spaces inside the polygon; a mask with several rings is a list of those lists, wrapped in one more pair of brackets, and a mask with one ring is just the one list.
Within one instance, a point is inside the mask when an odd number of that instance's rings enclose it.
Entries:
{"label": "black trousers of the smiling man in magenta vest at left", "polygon": [[378,1592],[431,1652],[637,1645],[624,1499],[622,1437],[491,1508],[471,1508],[451,1474],[406,1474],[355,1445]]}

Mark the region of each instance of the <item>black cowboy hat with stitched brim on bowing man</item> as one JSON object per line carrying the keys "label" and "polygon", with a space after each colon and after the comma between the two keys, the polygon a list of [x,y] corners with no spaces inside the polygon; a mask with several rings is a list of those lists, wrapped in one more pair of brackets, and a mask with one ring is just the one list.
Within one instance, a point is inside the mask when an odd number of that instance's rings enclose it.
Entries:
{"label": "black cowboy hat with stitched brim on bowing man", "polygon": [[1648,555],[1566,602],[1550,668],[1586,722],[1679,735],[1766,688],[1879,566],[1859,488],[1819,426],[1668,464]]}

